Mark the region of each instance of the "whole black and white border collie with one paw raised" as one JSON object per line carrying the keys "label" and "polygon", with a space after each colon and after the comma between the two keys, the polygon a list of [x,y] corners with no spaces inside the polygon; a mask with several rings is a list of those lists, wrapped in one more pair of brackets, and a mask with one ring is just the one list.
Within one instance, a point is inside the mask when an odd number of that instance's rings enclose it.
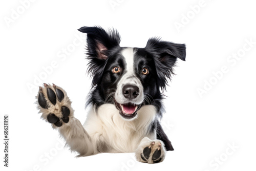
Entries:
{"label": "whole black and white border collie with one paw raised", "polygon": [[82,125],[67,93],[45,83],[37,95],[42,119],[52,123],[79,156],[135,152],[140,162],[162,162],[166,151],[173,151],[159,122],[162,91],[177,58],[185,60],[185,45],[151,38],[145,48],[127,48],[119,46],[115,30],[78,30],[87,33],[91,111]]}

